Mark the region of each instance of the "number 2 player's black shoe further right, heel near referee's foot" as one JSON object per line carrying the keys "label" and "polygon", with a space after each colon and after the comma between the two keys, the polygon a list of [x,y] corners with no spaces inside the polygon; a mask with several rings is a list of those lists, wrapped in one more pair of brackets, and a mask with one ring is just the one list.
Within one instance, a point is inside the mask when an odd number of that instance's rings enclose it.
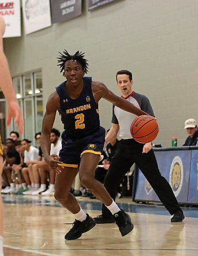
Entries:
{"label": "number 2 player's black shoe further right, heel near referee's foot", "polygon": [[134,225],[131,222],[129,215],[122,209],[114,214],[114,219],[119,227],[122,237],[126,236],[126,234],[133,230]]}

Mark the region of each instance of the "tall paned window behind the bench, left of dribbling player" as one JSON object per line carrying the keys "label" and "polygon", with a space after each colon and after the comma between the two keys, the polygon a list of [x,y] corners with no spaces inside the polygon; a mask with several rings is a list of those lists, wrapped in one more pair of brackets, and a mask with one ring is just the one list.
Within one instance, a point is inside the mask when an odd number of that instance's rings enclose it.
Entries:
{"label": "tall paned window behind the bench, left of dribbling player", "polygon": [[[41,131],[42,125],[42,73],[34,72],[25,74],[23,76],[14,77],[13,84],[16,92],[16,97],[24,114],[23,138],[31,140],[32,144],[34,144],[34,135],[35,133]],[[18,130],[18,127],[14,125],[14,122],[12,124],[12,130]]]}

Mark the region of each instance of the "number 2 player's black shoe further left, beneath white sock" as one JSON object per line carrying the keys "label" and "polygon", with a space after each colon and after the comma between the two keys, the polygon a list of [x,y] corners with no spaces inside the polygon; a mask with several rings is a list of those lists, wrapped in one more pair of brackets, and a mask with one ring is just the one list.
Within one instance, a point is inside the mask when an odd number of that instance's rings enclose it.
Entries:
{"label": "number 2 player's black shoe further left, beneath white sock", "polygon": [[82,233],[89,231],[96,225],[95,220],[90,217],[89,214],[86,214],[86,216],[86,219],[82,222],[78,220],[74,221],[74,223],[72,224],[73,227],[67,234],[65,234],[64,239],[75,240],[77,238],[80,238],[82,236]]}

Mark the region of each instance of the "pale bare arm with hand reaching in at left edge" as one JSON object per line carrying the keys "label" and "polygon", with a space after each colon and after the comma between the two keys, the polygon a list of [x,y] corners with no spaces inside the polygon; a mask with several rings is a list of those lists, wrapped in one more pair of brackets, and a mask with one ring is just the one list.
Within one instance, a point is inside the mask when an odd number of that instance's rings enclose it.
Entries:
{"label": "pale bare arm with hand reaching in at left edge", "polygon": [[20,134],[24,132],[24,119],[18,105],[16,95],[14,92],[12,78],[8,66],[7,58],[3,50],[3,35],[5,31],[5,23],[2,16],[0,16],[0,88],[8,102],[8,114],[6,124],[9,125],[12,117],[15,119],[14,123],[18,125]]}

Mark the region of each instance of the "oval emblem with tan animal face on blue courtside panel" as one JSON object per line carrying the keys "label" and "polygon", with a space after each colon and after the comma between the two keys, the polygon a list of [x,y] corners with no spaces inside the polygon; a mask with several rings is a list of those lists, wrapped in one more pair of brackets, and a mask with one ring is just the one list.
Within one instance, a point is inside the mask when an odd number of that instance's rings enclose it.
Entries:
{"label": "oval emblem with tan animal face on blue courtside panel", "polygon": [[169,184],[172,187],[175,197],[180,194],[184,178],[184,168],[182,159],[175,156],[170,165]]}

